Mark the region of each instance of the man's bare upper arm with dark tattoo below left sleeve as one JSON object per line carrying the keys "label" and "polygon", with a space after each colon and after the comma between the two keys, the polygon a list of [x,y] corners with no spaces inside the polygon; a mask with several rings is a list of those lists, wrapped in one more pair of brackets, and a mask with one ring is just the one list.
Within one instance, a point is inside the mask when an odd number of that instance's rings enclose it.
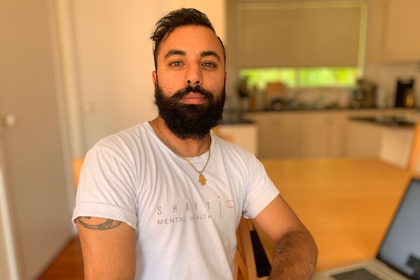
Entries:
{"label": "man's bare upper arm with dark tattoo below left sleeve", "polygon": [[133,280],[135,229],[126,223],[78,217],[85,280]]}

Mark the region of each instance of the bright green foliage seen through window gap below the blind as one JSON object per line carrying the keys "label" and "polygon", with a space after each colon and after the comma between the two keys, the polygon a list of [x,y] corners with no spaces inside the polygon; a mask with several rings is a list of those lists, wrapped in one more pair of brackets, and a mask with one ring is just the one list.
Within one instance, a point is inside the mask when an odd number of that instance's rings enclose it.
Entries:
{"label": "bright green foliage seen through window gap below the blind", "polygon": [[282,82],[288,88],[352,87],[356,84],[357,68],[248,68],[241,69],[240,78],[248,86],[264,89],[268,82]]}

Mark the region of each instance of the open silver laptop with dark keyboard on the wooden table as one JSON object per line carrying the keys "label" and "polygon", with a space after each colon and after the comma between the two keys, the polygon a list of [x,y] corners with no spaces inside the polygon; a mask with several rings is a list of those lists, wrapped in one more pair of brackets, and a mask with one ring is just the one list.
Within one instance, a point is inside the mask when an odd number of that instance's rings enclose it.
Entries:
{"label": "open silver laptop with dark keyboard on the wooden table", "polygon": [[420,180],[411,179],[374,259],[317,271],[310,278],[357,279],[420,279]]}

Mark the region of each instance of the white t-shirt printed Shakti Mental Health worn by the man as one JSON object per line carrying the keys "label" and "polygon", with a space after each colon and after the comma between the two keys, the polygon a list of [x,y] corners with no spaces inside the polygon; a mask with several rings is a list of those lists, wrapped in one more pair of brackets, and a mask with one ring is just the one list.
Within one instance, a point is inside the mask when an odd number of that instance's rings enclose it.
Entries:
{"label": "white t-shirt printed Shakti Mental Health worn by the man", "polygon": [[[202,170],[209,152],[188,158]],[[199,174],[148,122],[99,141],[86,155],[73,223],[81,216],[136,230],[135,279],[233,279],[235,231],[279,193],[255,156],[211,135]]]}

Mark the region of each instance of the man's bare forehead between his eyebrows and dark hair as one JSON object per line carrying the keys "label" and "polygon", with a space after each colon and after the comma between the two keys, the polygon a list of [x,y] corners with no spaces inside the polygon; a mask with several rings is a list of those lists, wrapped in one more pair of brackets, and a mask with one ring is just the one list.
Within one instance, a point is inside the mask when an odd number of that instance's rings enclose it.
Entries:
{"label": "man's bare forehead between his eyebrows and dark hair", "polygon": [[202,51],[214,51],[223,60],[223,48],[216,34],[210,28],[201,25],[187,25],[175,28],[160,43],[158,57],[163,57],[170,50],[182,50],[188,54]]}

